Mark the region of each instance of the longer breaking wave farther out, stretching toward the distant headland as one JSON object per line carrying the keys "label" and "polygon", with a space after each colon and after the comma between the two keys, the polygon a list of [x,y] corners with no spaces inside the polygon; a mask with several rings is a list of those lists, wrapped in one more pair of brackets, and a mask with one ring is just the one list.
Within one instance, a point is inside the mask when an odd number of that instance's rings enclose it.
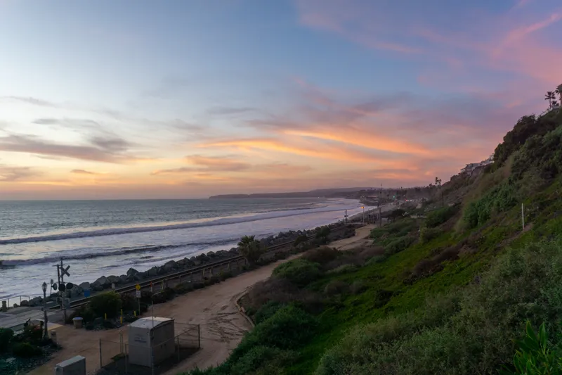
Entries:
{"label": "longer breaking wave farther out, stretching toward the distant headland", "polygon": [[341,210],[344,210],[344,208],[338,208],[335,207],[334,205],[330,205],[324,208],[317,208],[317,209],[310,209],[310,210],[297,209],[297,210],[285,210],[285,211],[272,211],[272,212],[266,212],[257,215],[249,215],[245,217],[221,217],[216,220],[208,220],[204,222],[169,224],[169,225],[161,225],[157,227],[109,228],[109,229],[98,229],[95,231],[78,231],[78,232],[66,233],[66,234],[48,234],[44,236],[29,236],[29,237],[20,237],[17,239],[3,239],[0,240],[0,245],[8,245],[13,243],[59,241],[59,240],[66,240],[66,239],[81,239],[85,237],[113,236],[117,234],[131,234],[131,233],[142,233],[142,232],[150,232],[150,231],[169,231],[174,229],[214,227],[217,225],[255,222],[259,220],[275,219],[277,217],[308,215],[316,212],[335,212]]}

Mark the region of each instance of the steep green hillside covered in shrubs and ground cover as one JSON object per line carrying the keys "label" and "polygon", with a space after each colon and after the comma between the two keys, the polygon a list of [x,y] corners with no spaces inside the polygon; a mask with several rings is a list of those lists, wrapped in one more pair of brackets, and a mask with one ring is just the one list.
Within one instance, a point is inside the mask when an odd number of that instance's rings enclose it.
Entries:
{"label": "steep green hillside covered in shrubs and ground cover", "polygon": [[284,265],[249,293],[256,329],[202,373],[497,374],[528,320],[558,345],[561,124],[523,117],[494,165],[443,186],[456,205],[374,229],[376,246]]}

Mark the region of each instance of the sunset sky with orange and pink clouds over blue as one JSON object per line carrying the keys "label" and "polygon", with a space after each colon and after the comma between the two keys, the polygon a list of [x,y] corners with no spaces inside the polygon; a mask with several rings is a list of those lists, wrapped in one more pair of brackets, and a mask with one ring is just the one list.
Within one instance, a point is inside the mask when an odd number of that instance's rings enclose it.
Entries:
{"label": "sunset sky with orange and pink clouds over blue", "polygon": [[562,83],[554,0],[0,0],[0,200],[424,186]]}

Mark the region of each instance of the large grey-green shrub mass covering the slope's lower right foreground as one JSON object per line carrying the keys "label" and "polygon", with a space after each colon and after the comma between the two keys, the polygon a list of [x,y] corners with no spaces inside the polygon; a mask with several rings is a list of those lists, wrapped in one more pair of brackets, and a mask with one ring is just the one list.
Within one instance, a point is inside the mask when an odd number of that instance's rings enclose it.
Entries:
{"label": "large grey-green shrub mass covering the slope's lower right foreground", "polygon": [[358,326],[322,357],[316,374],[497,374],[525,322],[561,343],[562,241],[509,250],[480,284],[438,308]]}

